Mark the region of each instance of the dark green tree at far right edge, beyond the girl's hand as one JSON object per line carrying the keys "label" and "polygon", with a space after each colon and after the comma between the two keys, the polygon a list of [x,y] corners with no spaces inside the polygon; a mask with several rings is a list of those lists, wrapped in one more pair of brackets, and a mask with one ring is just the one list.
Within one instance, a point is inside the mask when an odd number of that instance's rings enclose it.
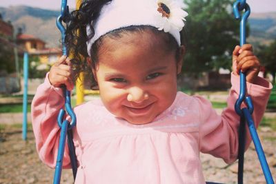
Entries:
{"label": "dark green tree at far right edge, beyond the girl's hand", "polygon": [[270,72],[273,76],[273,84],[276,77],[276,39],[268,46],[260,46],[257,53],[262,65],[266,68],[266,72]]}

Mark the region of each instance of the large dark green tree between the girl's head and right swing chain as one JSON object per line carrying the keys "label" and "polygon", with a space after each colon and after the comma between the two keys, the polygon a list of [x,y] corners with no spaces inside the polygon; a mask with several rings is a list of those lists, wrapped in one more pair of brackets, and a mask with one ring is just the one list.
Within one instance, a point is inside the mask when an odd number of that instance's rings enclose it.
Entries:
{"label": "large dark green tree between the girl's head and right swing chain", "polygon": [[184,72],[200,74],[230,69],[232,52],[239,44],[239,21],[230,0],[184,0],[188,17],[184,27],[187,54]]}

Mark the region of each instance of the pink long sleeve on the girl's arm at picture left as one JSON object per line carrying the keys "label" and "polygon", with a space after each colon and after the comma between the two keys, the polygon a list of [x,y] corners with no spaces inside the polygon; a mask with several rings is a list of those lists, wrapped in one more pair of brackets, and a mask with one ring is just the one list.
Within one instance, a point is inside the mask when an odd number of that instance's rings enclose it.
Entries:
{"label": "pink long sleeve on the girl's arm at picture left", "polygon": [[[61,88],[53,87],[48,81],[48,74],[43,84],[39,85],[32,100],[32,128],[36,139],[39,158],[49,167],[55,167],[59,145],[60,128],[57,125],[59,110],[64,99]],[[66,144],[63,167],[70,167],[70,157]]]}

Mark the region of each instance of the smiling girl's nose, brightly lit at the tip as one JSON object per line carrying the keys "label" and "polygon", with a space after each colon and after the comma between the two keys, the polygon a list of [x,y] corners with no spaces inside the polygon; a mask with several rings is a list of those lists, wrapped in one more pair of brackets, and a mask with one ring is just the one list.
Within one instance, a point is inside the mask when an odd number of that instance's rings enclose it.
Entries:
{"label": "smiling girl's nose, brightly lit at the tip", "polygon": [[141,103],[146,99],[148,99],[148,93],[144,89],[138,87],[130,88],[127,96],[128,101]]}

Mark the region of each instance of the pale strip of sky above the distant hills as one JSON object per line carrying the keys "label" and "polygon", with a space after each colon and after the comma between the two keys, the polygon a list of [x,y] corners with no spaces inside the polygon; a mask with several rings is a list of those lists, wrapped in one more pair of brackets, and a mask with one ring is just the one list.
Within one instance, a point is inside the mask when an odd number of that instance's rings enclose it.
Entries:
{"label": "pale strip of sky above the distant hills", "polygon": [[[276,0],[247,0],[251,12],[276,12]],[[75,9],[76,0],[67,0],[70,10]],[[0,7],[8,6],[32,6],[36,8],[59,10],[61,0],[0,0]]]}

